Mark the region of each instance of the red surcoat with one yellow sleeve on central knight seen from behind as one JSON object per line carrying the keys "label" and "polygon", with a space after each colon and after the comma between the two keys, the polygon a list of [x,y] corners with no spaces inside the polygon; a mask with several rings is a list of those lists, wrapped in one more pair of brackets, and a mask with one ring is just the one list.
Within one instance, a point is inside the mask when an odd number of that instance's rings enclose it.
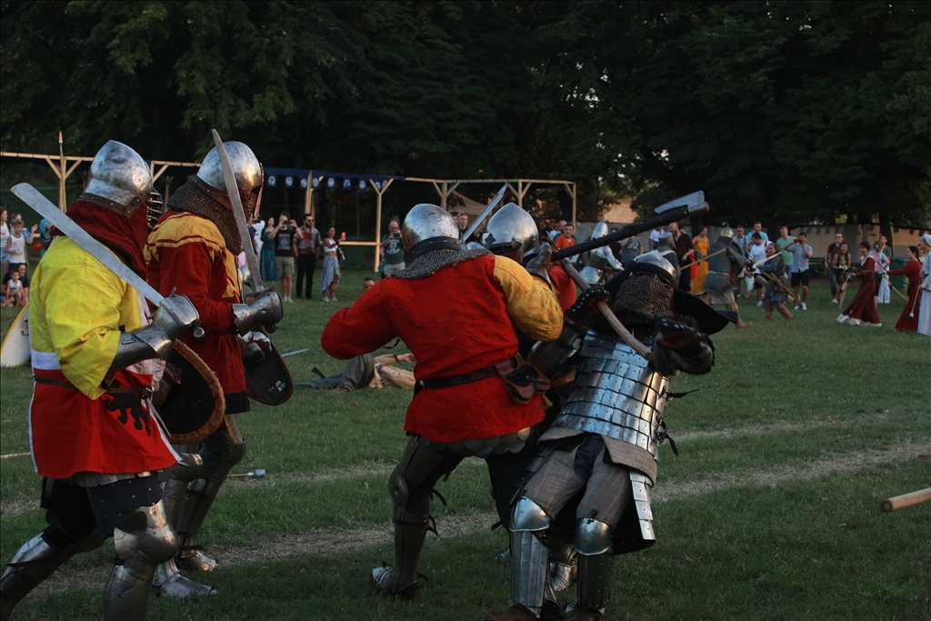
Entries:
{"label": "red surcoat with one yellow sleeve on central knight seen from behind", "polygon": [[[414,356],[414,377],[461,375],[517,354],[515,327],[530,338],[555,340],[562,310],[546,283],[518,263],[484,255],[405,280],[386,278],[323,331],[334,358],[368,354],[400,337]],[[503,436],[543,419],[540,399],[519,405],[499,377],[423,389],[408,407],[404,428],[439,442]]]}

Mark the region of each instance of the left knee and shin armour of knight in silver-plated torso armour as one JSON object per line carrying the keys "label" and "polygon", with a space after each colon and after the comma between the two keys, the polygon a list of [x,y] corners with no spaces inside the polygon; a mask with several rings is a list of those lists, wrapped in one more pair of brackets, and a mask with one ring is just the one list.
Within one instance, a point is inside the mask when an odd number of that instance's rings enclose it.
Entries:
{"label": "left knee and shin armour of knight in silver-plated torso armour", "polygon": [[546,599],[549,550],[540,535],[548,527],[543,507],[520,498],[511,517],[511,602],[536,612]]}

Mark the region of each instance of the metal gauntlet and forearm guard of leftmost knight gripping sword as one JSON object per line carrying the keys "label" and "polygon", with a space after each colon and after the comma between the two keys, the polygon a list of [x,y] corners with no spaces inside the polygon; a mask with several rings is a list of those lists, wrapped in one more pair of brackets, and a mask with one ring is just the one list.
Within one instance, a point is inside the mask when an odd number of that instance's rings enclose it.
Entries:
{"label": "metal gauntlet and forearm guard of leftmost knight gripping sword", "polygon": [[[171,343],[186,330],[199,330],[200,315],[183,295],[171,295],[158,305],[152,323],[120,336],[110,370],[125,369],[148,358],[169,357]],[[201,331],[202,332],[202,331]]]}

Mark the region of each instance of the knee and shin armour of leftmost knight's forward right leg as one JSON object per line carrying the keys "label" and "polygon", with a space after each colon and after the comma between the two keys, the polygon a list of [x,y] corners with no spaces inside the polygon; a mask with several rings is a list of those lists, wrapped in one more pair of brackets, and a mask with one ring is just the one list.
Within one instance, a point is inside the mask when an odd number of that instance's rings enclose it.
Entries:
{"label": "knee and shin armour of leftmost knight's forward right leg", "polygon": [[142,506],[114,532],[116,562],[103,591],[104,621],[142,621],[155,567],[174,556],[175,533],[161,501]]}

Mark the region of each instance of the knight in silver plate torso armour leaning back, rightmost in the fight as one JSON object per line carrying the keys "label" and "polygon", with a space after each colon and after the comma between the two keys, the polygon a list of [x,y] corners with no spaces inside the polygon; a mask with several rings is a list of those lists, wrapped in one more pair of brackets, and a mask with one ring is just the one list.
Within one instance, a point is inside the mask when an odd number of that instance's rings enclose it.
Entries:
{"label": "knight in silver plate torso armour leaning back, rightmost in the fight", "polygon": [[584,293],[567,313],[589,328],[571,394],[541,437],[517,494],[510,524],[512,604],[488,621],[561,618],[541,614],[550,587],[547,546],[554,540],[568,540],[578,553],[572,618],[599,621],[611,595],[614,555],[654,544],[650,490],[659,444],[667,438],[669,379],[680,371],[710,371],[708,333],[727,324],[675,285],[672,265],[653,251],[630,261],[602,290],[627,329],[652,347],[652,361],[602,325],[592,303],[603,293]]}

